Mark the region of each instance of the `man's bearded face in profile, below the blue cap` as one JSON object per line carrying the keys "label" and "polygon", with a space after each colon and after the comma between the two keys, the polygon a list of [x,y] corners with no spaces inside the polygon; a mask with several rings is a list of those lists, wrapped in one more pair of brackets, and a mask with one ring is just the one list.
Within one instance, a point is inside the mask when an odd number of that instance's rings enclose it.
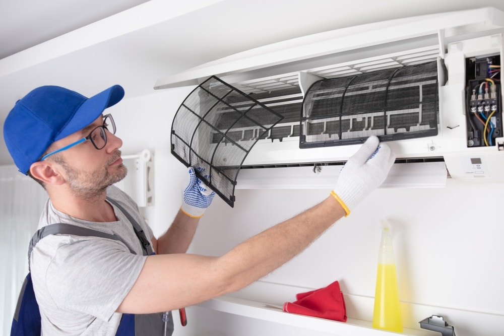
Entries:
{"label": "man's bearded face in profile, below the blue cap", "polygon": [[[103,125],[101,115],[88,127],[61,139],[55,145],[57,148],[61,148],[87,137],[93,128],[100,125]],[[97,150],[90,141],[86,141],[53,155],[53,161],[64,168],[70,189],[81,198],[95,197],[109,185],[122,180],[128,172],[128,169],[122,164],[121,152],[119,151],[122,141],[108,130],[105,132],[107,143],[101,150]]]}

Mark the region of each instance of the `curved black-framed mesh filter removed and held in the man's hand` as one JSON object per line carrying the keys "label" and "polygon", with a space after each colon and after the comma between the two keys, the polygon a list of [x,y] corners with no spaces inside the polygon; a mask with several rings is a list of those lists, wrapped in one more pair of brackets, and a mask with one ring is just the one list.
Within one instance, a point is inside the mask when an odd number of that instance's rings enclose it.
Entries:
{"label": "curved black-framed mesh filter removed and held in the man's hand", "polygon": [[257,100],[210,77],[188,95],[175,114],[171,153],[231,207],[236,177],[256,142],[282,120]]}

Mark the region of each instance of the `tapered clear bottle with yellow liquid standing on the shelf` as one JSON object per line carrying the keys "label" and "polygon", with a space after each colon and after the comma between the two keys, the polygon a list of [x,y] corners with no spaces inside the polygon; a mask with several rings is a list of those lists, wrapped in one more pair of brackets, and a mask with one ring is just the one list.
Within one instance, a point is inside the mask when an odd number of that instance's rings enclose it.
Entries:
{"label": "tapered clear bottle with yellow liquid standing on the shelf", "polygon": [[373,328],[403,332],[396,263],[389,223],[382,219],[382,241],[378,255]]}

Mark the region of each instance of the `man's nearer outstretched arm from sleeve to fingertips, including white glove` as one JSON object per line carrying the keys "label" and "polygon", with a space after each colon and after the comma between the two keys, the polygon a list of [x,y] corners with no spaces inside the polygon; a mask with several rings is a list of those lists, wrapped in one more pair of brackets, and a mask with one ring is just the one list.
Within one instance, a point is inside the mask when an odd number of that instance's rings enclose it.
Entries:
{"label": "man's nearer outstretched arm from sleeve to fingertips, including white glove", "polygon": [[[342,168],[331,196],[245,240],[220,257],[148,256],[117,311],[151,313],[194,305],[262,278],[304,250],[387,177],[395,156],[370,137]],[[194,224],[194,223],[193,223]]]}

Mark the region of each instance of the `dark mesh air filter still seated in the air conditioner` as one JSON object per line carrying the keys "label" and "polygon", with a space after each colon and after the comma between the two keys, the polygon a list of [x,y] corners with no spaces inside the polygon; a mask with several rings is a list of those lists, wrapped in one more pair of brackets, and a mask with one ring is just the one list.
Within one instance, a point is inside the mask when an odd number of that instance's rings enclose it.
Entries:
{"label": "dark mesh air filter still seated in the air conditioner", "polygon": [[437,62],[314,83],[303,100],[300,148],[437,135]]}

